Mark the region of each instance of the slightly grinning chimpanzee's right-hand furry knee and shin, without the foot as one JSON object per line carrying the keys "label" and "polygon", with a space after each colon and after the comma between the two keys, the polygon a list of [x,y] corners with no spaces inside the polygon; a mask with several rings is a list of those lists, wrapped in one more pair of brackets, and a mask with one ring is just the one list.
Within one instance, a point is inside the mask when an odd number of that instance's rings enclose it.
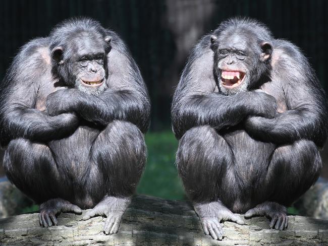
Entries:
{"label": "slightly grinning chimpanzee's right-hand furry knee and shin, without the foot", "polygon": [[140,180],[147,157],[141,131],[128,121],[114,120],[99,134],[92,159],[112,196],[130,196]]}

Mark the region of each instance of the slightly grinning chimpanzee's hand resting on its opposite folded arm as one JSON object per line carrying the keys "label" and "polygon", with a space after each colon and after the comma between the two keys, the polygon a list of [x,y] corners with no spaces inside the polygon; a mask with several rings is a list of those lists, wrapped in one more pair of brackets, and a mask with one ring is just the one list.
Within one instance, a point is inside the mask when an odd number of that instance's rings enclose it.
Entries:
{"label": "slightly grinning chimpanzee's hand resting on its opposite folded arm", "polygon": [[72,89],[62,89],[50,93],[45,102],[46,112],[50,116],[72,111]]}

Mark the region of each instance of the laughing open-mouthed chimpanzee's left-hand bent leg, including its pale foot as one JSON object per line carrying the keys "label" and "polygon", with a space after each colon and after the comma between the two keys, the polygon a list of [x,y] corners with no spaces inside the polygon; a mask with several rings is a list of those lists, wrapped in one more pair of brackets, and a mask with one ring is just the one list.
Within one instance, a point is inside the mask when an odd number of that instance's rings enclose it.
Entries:
{"label": "laughing open-mouthed chimpanzee's left-hand bent leg, including its pale foot", "polygon": [[[194,203],[205,234],[222,239],[220,221],[244,224],[219,200],[226,190],[234,189],[233,157],[227,142],[209,126],[188,130],[179,142],[177,166],[187,194]],[[229,173],[232,176],[229,176]],[[227,176],[228,175],[228,176]],[[237,189],[237,188],[236,188]],[[226,194],[224,195],[226,196]]]}

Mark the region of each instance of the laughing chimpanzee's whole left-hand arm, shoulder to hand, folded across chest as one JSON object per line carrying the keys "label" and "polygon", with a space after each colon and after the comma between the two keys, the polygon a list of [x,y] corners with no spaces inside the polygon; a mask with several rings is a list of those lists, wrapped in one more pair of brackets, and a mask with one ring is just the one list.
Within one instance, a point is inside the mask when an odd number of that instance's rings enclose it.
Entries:
{"label": "laughing chimpanzee's whole left-hand arm, shoulder to hand, folded across chest", "polygon": [[217,91],[213,76],[213,51],[205,36],[193,49],[172,103],[173,131],[178,139],[194,126],[215,129],[239,124],[249,114],[273,117],[276,101],[257,91],[226,96]]}

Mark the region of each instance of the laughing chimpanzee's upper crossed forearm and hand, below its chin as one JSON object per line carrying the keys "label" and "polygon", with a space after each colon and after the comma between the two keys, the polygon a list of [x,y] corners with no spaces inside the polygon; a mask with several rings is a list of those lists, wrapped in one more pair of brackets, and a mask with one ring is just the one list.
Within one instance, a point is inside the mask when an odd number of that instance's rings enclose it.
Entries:
{"label": "laughing chimpanzee's upper crossed forearm and hand, below its chin", "polygon": [[218,93],[191,95],[174,100],[173,130],[180,139],[194,126],[209,125],[221,130],[239,124],[248,115],[273,117],[275,112],[274,98],[262,92],[242,92],[231,96]]}

